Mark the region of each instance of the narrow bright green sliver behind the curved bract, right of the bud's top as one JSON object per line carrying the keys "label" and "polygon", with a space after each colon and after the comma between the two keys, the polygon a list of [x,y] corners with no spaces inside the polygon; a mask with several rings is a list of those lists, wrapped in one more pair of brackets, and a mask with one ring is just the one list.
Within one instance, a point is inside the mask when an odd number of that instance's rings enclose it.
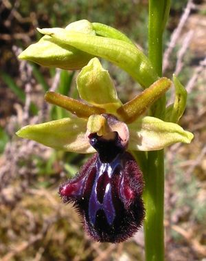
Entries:
{"label": "narrow bright green sliver behind the curved bract, right of the bud's top", "polygon": [[108,38],[118,39],[125,41],[126,43],[134,44],[128,36],[120,32],[119,30],[105,25],[104,23],[92,23],[93,30],[95,30],[95,34],[98,36],[104,36]]}

